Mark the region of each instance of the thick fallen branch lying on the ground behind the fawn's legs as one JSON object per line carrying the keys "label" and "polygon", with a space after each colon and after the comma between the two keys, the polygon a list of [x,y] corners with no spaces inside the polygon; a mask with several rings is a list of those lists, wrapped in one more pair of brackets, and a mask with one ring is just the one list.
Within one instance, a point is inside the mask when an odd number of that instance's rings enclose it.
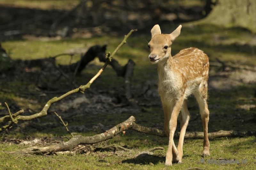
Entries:
{"label": "thick fallen branch lying on the ground behind the fawn's legs", "polygon": [[[117,124],[115,127],[109,129],[108,131],[94,135],[91,137],[83,137],[81,135],[74,136],[70,140],[64,143],[59,143],[56,145],[50,145],[50,146],[45,146],[45,147],[31,147],[27,149],[23,149],[20,151],[15,151],[11,153],[29,153],[29,154],[52,154],[55,152],[62,152],[62,151],[71,151],[73,148],[75,148],[77,145],[92,145],[95,143],[99,143],[111,138],[114,138],[117,134],[130,129],[133,131],[138,131],[141,133],[146,133],[150,135],[156,135],[160,137],[167,137],[164,135],[164,131],[155,129],[155,128],[147,128],[144,126],[140,126],[135,124],[135,117],[131,116],[129,119],[124,121],[121,124]],[[208,133],[209,139],[214,139],[214,138],[220,138],[220,137],[241,137],[241,136],[255,136],[256,131],[247,131],[247,132],[237,132],[237,131],[218,131],[218,132],[213,132],[213,133]],[[203,132],[186,132],[185,138],[203,138]],[[174,135],[175,138],[179,138],[179,133],[175,133]],[[118,147],[118,145],[111,145],[108,147]],[[107,148],[107,147],[105,147]],[[121,148],[123,150],[128,151],[126,148]],[[162,147],[155,147],[153,149],[147,150],[147,152],[152,152],[158,149],[163,149]],[[63,153],[60,153],[63,154]],[[65,154],[73,154],[73,153],[65,153]]]}

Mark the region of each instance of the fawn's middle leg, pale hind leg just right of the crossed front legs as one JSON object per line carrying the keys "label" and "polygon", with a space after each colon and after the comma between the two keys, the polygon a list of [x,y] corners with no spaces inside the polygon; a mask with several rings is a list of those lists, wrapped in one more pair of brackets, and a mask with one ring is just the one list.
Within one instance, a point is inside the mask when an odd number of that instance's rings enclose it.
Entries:
{"label": "fawn's middle leg, pale hind leg just right of the crossed front legs", "polygon": [[179,139],[179,145],[178,145],[178,152],[179,152],[179,163],[181,163],[182,156],[183,156],[183,141],[184,141],[184,136],[186,133],[186,129],[188,126],[188,121],[189,121],[189,112],[188,112],[188,107],[186,101],[183,102],[183,105],[180,110],[180,139]]}

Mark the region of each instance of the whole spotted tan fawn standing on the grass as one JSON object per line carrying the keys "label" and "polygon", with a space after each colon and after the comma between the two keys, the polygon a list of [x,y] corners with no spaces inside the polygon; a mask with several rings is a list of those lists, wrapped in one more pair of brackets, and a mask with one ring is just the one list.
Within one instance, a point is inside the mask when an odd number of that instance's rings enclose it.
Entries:
{"label": "whole spotted tan fawn standing on the grass", "polygon": [[[164,109],[164,130],[169,138],[165,165],[181,163],[182,146],[189,121],[186,99],[194,94],[199,104],[204,126],[203,156],[210,156],[208,139],[209,110],[207,105],[207,80],[209,75],[209,58],[197,48],[186,48],[171,56],[172,42],[180,35],[181,25],[171,34],[161,34],[159,25],[151,30],[152,38],[148,43],[149,60],[157,64],[158,93]],[[181,113],[180,113],[181,112]],[[173,135],[180,113],[180,139],[178,149]]]}

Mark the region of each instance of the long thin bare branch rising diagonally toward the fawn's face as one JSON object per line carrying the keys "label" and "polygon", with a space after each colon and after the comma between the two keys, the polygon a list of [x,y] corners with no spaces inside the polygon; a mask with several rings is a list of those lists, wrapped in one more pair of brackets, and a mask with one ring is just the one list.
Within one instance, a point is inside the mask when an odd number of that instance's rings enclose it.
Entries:
{"label": "long thin bare branch rising diagonally toward the fawn's face", "polygon": [[[113,58],[113,56],[115,55],[115,53],[120,49],[120,47],[122,45],[124,45],[126,43],[126,39],[132,34],[132,32],[135,32],[137,31],[136,30],[131,30],[127,35],[124,36],[124,39],[123,41],[120,43],[119,46],[116,47],[116,50],[112,53],[112,55],[107,58],[107,62],[104,64],[104,66],[100,69],[99,73],[96,74],[86,85],[82,85],[80,86],[79,88],[77,89],[74,89],[74,90],[71,90],[67,93],[65,93],[64,95],[60,96],[60,97],[53,97],[51,100],[49,100],[45,105],[44,105],[44,108],[39,112],[39,113],[36,113],[36,114],[33,114],[33,115],[30,115],[30,116],[18,116],[18,115],[12,115],[12,117],[16,117],[17,120],[32,120],[32,119],[35,119],[35,118],[38,118],[38,117],[42,117],[42,116],[45,116],[47,115],[47,110],[50,108],[50,106],[52,105],[52,103],[56,103],[58,101],[60,101],[61,99],[73,94],[73,93],[77,93],[77,92],[81,92],[84,94],[84,90],[85,89],[88,89],[90,88],[92,82],[102,73],[102,71],[107,67],[108,65],[108,62],[110,62],[110,60]],[[16,114],[16,113],[15,113]],[[0,118],[0,123],[5,123],[5,122],[8,122],[10,121],[11,118],[10,116],[5,116],[5,117],[1,117]],[[0,130],[1,131],[1,130]]]}

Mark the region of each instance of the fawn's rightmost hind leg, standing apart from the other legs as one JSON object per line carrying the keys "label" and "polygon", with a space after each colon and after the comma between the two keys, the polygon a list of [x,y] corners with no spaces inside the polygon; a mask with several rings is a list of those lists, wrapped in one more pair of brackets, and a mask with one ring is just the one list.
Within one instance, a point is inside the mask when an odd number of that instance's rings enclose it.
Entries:
{"label": "fawn's rightmost hind leg, standing apart from the other legs", "polygon": [[[200,85],[201,86],[201,85]],[[203,120],[204,126],[204,150],[203,156],[210,156],[210,142],[208,139],[208,122],[209,122],[209,110],[207,105],[207,83],[194,94],[199,104],[200,115]]]}

